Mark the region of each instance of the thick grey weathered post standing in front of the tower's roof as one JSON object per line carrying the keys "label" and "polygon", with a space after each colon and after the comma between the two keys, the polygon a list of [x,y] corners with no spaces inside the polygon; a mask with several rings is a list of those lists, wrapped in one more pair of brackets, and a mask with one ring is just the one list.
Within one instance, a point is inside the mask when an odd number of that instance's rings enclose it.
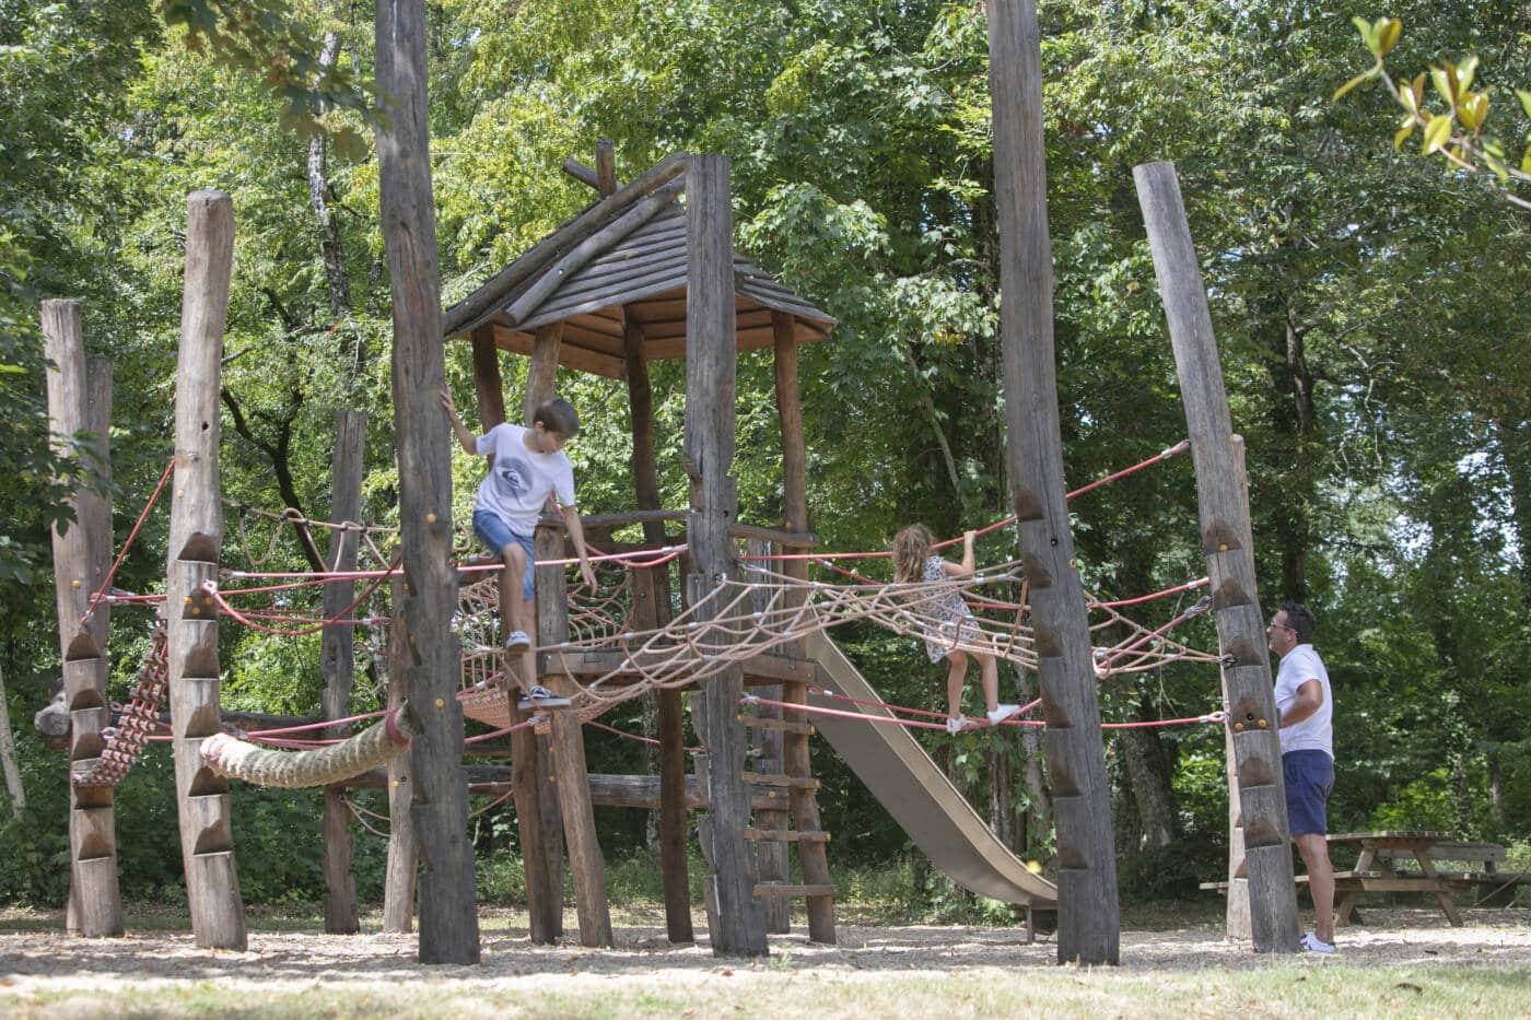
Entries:
{"label": "thick grey weathered post standing in front of the tower's roof", "polygon": [[[692,156],[686,168],[686,473],[690,476],[690,553],[700,590],[738,574],[729,525],[738,516],[733,392],[738,351],[733,311],[733,208],[726,156]],[[698,606],[698,619],[717,610]],[[750,796],[744,784],[744,674],[730,666],[707,680],[706,734],[712,803],[712,875],[718,956],[766,956],[766,914],[755,899],[755,859],[744,841]]]}

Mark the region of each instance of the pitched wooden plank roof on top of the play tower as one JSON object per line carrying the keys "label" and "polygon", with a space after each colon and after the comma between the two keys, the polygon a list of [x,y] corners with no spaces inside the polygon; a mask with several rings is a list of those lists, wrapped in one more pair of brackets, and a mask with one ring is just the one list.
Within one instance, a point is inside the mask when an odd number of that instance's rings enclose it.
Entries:
{"label": "pitched wooden plank roof on top of the play tower", "polygon": [[[623,323],[637,325],[649,360],[686,357],[686,210],[678,199],[686,156],[655,164],[539,240],[479,289],[446,311],[447,337],[488,326],[495,345],[531,354],[537,326],[562,322],[559,363],[626,375]],[[828,337],[824,311],[733,254],[739,351],[773,345],[772,312],[793,315],[798,343]]]}

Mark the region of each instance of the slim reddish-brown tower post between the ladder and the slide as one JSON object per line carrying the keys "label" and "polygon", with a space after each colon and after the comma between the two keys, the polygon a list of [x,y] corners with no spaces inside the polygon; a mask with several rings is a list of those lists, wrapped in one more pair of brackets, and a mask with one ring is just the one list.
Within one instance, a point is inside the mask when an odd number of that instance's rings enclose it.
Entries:
{"label": "slim reddish-brown tower post between the ladder and the slide", "polygon": [[[793,335],[793,317],[787,312],[772,312],[772,340],[776,369],[776,417],[781,421],[781,479],[782,508],[788,531],[804,533],[808,530],[808,450],[802,433],[802,398],[798,384],[798,340]],[[804,551],[799,547],[785,547],[788,553]],[[799,580],[808,579],[808,564],[801,559],[785,561],[782,573]],[[802,594],[790,594],[788,605],[801,605]],[[805,654],[804,642],[790,646],[798,654]],[[808,691],[801,683],[788,683],[782,688],[782,700],[807,705]],[[795,714],[802,718],[801,712]],[[813,775],[813,755],[808,734],[782,735],[782,766],[787,775]],[[793,825],[799,832],[818,832],[819,803],[813,790],[793,787],[787,793],[792,804]],[[831,885],[830,855],[822,842],[799,842],[798,859],[802,862],[802,881],[808,885]],[[808,896],[808,939],[813,942],[834,942],[834,897]]]}

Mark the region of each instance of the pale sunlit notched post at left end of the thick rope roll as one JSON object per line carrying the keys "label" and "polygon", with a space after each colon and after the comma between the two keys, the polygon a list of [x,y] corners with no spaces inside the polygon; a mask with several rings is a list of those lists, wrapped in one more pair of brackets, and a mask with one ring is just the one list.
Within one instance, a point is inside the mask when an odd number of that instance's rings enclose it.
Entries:
{"label": "pale sunlit notched post at left end of the thick rope roll", "polygon": [[175,735],[181,856],[196,943],[245,950],[245,908],[234,868],[228,780],[202,758],[219,723],[217,580],[224,542],[219,502],[219,372],[234,263],[234,207],[222,191],[187,202],[185,297],[176,363],[176,472],[170,485],[167,659]]}

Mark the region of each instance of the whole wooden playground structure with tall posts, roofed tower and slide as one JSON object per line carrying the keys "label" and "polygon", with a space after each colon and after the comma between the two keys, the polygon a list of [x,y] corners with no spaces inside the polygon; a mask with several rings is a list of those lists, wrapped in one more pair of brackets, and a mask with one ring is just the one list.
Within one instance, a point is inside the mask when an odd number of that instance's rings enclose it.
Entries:
{"label": "whole wooden playground structure with tall posts, roofed tower and slide", "polygon": [[[1023,58],[1035,63],[1035,47],[1021,44],[1027,31],[1035,34],[1035,17],[1032,12],[1029,25],[1026,18],[1018,25],[1006,23],[1004,18],[1014,15],[1010,6],[997,3],[991,8],[991,37],[997,47],[995,58],[991,60],[991,70],[997,75],[997,155],[1004,156],[997,158],[1003,199],[1001,239],[1012,248],[1018,244],[1023,253],[1015,257],[1012,251],[1004,260],[1003,289],[1012,300],[1003,305],[1003,332],[1012,429],[1009,449],[1012,456],[1023,459],[1020,469],[1012,472],[1017,479],[1015,508],[1021,545],[1018,570],[1030,593],[1030,652],[1043,688],[1046,749],[1058,809],[1058,954],[1059,960],[1115,962],[1115,859],[1108,815],[1101,810],[1105,787],[1099,709],[1090,682],[1101,662],[1090,648],[1059,481],[1061,450],[1052,386],[1050,270],[1036,268],[1047,263],[1046,199],[1038,201],[1035,193],[1023,195],[1026,188],[1035,191],[1044,187],[1046,175],[1040,167],[1040,139],[1036,144],[1018,142],[1017,126],[1010,123],[1014,109],[1029,110],[1040,101],[1040,93],[1029,98],[1026,95],[1027,75],[1036,78],[1036,83],[1040,77],[1033,74],[1035,67],[1023,74],[1020,100],[1015,98],[1017,84],[1000,80],[1014,69],[1024,70],[1029,64]],[[1000,14],[995,15],[995,11]],[[381,18],[380,8],[380,23]],[[390,678],[398,700],[407,689],[409,701],[421,717],[423,732],[410,747],[407,764],[393,758],[389,766],[390,816],[395,822],[395,845],[401,852],[395,859],[390,847],[390,907],[386,914],[389,924],[398,924],[403,904],[407,917],[412,899],[407,890],[416,878],[418,855],[424,865],[418,871],[421,960],[473,962],[478,959],[478,925],[464,839],[468,792],[461,766],[464,705],[450,697],[462,671],[458,639],[447,625],[456,605],[458,577],[449,565],[450,512],[442,499],[442,493],[450,492],[450,485],[442,484],[446,456],[432,455],[435,447],[430,438],[432,432],[442,432],[439,409],[433,400],[441,381],[441,332],[449,337],[465,334],[473,343],[475,383],[484,427],[504,418],[498,349],[531,355],[528,409],[551,392],[560,363],[628,380],[640,515],[635,519],[645,525],[646,545],[672,544],[666,539],[663,525],[664,518],[675,513],[658,505],[646,361],[652,357],[686,357],[684,466],[692,481],[690,508],[684,512],[686,567],[683,582],[675,582],[680,588],[674,591],[675,597],[668,574],[661,574],[657,567],[632,570],[634,629],[668,628],[674,620],[666,616],[674,611],[678,599],[678,605],[689,614],[687,625],[709,631],[724,645],[744,645],[747,639],[727,625],[727,606],[732,603],[715,597],[739,577],[738,538],[767,539],[784,550],[782,556],[787,559],[781,561],[779,571],[782,593],[775,605],[796,613],[808,602],[807,561],[792,559],[804,556],[802,550],[813,545],[813,536],[807,531],[796,345],[822,338],[833,323],[733,256],[726,159],[672,156],[631,184],[619,187],[609,147],[597,152],[594,170],[576,168],[577,176],[596,184],[602,198],[478,293],[449,309],[442,320],[433,262],[426,265],[421,260],[429,262],[433,256],[419,256],[421,251],[435,251],[433,224],[429,213],[423,213],[430,208],[429,167],[419,170],[418,164],[401,161],[401,153],[424,150],[419,103],[423,86],[418,81],[398,86],[395,81],[395,75],[401,74],[397,61],[407,60],[423,66],[423,52],[416,51],[424,35],[418,31],[419,26],[415,26],[416,31],[406,29],[407,25],[384,34],[380,26],[380,38],[407,43],[410,52],[384,52],[380,46],[378,60],[380,84],[386,84],[390,93],[406,103],[406,110],[395,119],[392,130],[381,136],[384,231],[393,237],[400,224],[426,227],[418,233],[419,244],[413,247],[389,244],[390,280],[395,288],[395,412],[403,479],[403,577],[393,577]],[[407,78],[407,69],[404,77]],[[1001,107],[1006,109],[1004,116],[998,115]],[[1030,127],[1040,133],[1040,118]],[[1024,152],[1015,152],[1017,145]],[[1027,159],[1021,159],[1021,155]],[[1027,176],[1027,167],[1035,173]],[[1145,193],[1154,263],[1170,309],[1171,337],[1191,426],[1190,446],[1202,492],[1203,548],[1214,593],[1209,606],[1219,620],[1223,648],[1220,662],[1232,715],[1229,773],[1240,795],[1237,803],[1246,844],[1240,852],[1248,867],[1252,931],[1257,948],[1291,951],[1297,937],[1292,867],[1280,769],[1275,767],[1278,755],[1269,663],[1263,642],[1258,640],[1263,620],[1254,590],[1248,510],[1243,505],[1245,490],[1236,459],[1237,436],[1232,436],[1228,423],[1205,294],[1200,293],[1173,170],[1168,170],[1168,187],[1164,173],[1157,181],[1148,179],[1150,176],[1141,175],[1139,187]],[[1165,198],[1171,188],[1173,202]],[[675,201],[681,190],[686,195],[684,213],[678,211]],[[1147,198],[1151,193],[1159,196],[1157,204]],[[1167,208],[1170,211],[1164,213]],[[227,196],[205,191],[191,196],[190,210],[187,297],[176,395],[176,463],[170,487],[164,672],[171,700],[176,792],[196,939],[204,946],[243,948],[243,911],[234,871],[227,780],[210,767],[202,743],[220,727],[217,617],[227,606],[217,593],[224,535],[217,493],[217,374],[228,299],[233,214]],[[1173,239],[1176,244],[1165,244],[1165,234],[1174,231],[1183,233],[1183,245],[1179,245],[1179,233]],[[1038,237],[1043,257],[1038,257],[1036,248],[1026,248]],[[1023,265],[1030,270],[1017,273],[1015,268]],[[1027,274],[1033,271],[1041,276]],[[1040,294],[1030,286],[1036,280],[1046,283]],[[49,315],[55,312],[58,322],[51,323]],[[1017,325],[1015,315],[1023,314],[1030,322]],[[73,351],[63,358],[54,357],[60,365],[61,380],[57,403],[52,400],[52,377],[49,383],[55,423],[66,433],[81,427],[87,407],[96,412],[95,403],[81,398],[86,372],[78,354],[83,342],[77,306],[72,315],[70,338],[70,326],[64,322],[69,319],[67,309],[44,308],[51,354],[63,345],[72,345]],[[421,331],[419,323],[438,328]],[[1030,343],[1033,332],[1040,337],[1036,343]],[[776,358],[785,521],[781,528],[743,528],[736,521],[738,507],[729,475],[735,441],[735,357],[739,348],[767,345]],[[100,433],[104,435],[104,427]],[[444,444],[436,446],[444,452]],[[83,524],[92,513],[100,515],[84,501],[80,507]],[[109,521],[109,515],[101,516]],[[338,512],[335,516],[344,519]],[[81,775],[96,767],[100,752],[106,749],[106,605],[95,597],[104,591],[110,573],[104,568],[110,547],[109,535],[103,538],[104,531],[109,527],[98,521],[93,527],[72,528],[67,535],[55,536],[64,686],[73,723],[70,767]],[[332,559],[337,565],[344,561],[349,535],[346,528],[340,528],[334,536]],[[597,689],[605,692],[620,686],[623,674],[643,680],[629,688],[648,683],[657,691],[661,750],[655,799],[661,812],[666,914],[671,937],[686,940],[690,937],[690,919],[684,893],[684,816],[692,801],[687,799],[677,689],[684,677],[675,677],[677,683],[652,683],[654,677],[645,672],[652,669],[652,663],[641,657],[635,660],[628,651],[560,651],[570,631],[568,597],[562,567],[547,561],[559,559],[562,544],[556,527],[539,527],[539,561],[545,565],[537,571],[539,652],[533,657],[533,669],[556,692],[577,695],[588,689],[589,685],[582,686],[577,677],[596,677],[600,682]],[[341,591],[346,584],[343,573],[337,571],[334,584],[326,588]],[[348,600],[343,591],[338,605],[326,599],[326,619],[338,620]],[[341,626],[328,631],[326,639],[331,633],[341,636],[337,639],[341,645],[349,643],[349,631]],[[332,646],[326,640],[328,648]],[[848,663],[836,657],[833,645],[818,628],[805,628],[801,634],[781,633],[773,639],[773,646],[764,651],[736,651],[744,654],[721,655],[721,665],[709,671],[710,675],[692,700],[694,724],[707,749],[706,757],[698,758],[697,795],[707,809],[700,830],[709,868],[703,885],[713,950],[753,956],[766,953],[767,930],[782,924],[784,896],[807,901],[810,937],[833,939],[834,925],[827,833],[819,825],[813,796],[816,781],[808,750],[811,726],[802,718],[776,717],[767,709],[782,709],[785,714],[811,708],[810,686],[837,688],[842,695],[856,697],[847,692],[859,691],[859,678],[848,669]],[[1107,655],[1105,668],[1113,665]],[[328,668],[329,651],[326,671]],[[514,668],[514,663],[507,663],[505,668]],[[338,720],[343,712],[337,705],[343,705],[349,694],[349,677],[340,677],[338,672],[334,677],[326,691],[326,715]],[[544,741],[533,731],[534,720],[524,718],[510,700],[508,691],[513,686],[502,683],[496,695],[484,701],[491,705],[498,698],[504,706],[507,729],[513,729],[511,789],[527,861],[533,939],[551,940],[559,934],[562,882],[557,868],[562,865],[554,865],[554,861],[562,861],[557,844],[563,841],[574,878],[580,939],[585,945],[609,945],[605,878],[591,813],[596,803],[594,784],[585,769],[579,712],[554,712]],[[779,691],[775,691],[778,686]],[[741,712],[747,688],[761,706],[756,714]],[[635,689],[625,692],[631,694]],[[770,697],[772,694],[778,697]],[[874,729],[873,723],[860,726]],[[899,761],[905,773],[916,776],[912,786],[928,807],[909,810],[919,812],[919,819],[934,818],[934,824],[905,824],[937,864],[949,862],[954,878],[969,888],[978,887],[978,891],[989,894],[997,890],[1001,897],[1029,905],[1050,902],[1050,887],[1024,873],[1024,868],[1017,871],[1009,861],[992,855],[992,845],[974,830],[972,819],[961,816],[951,803],[951,795],[923,775],[909,749],[912,740],[905,744],[888,740],[879,746],[870,732],[856,729],[851,723],[827,723],[825,732],[833,734],[837,727],[841,737],[831,740],[842,746],[847,760],[871,763],[857,767],[896,772],[883,764]],[[753,773],[744,767],[749,734],[759,738]],[[775,743],[778,740],[779,744]],[[762,761],[779,763],[772,766],[779,772],[762,772]],[[756,798],[753,790],[758,787],[767,792],[785,790],[785,810],[779,796]],[[903,789],[911,787],[905,784]],[[75,786],[70,807],[70,927],[81,934],[116,934],[122,925],[116,896],[110,787]],[[948,830],[958,832],[954,835]],[[326,832],[331,832],[328,821]],[[769,853],[755,853],[761,844],[770,845]],[[343,845],[340,836],[331,842],[332,852]],[[798,848],[804,885],[781,881],[785,876],[787,847]],[[326,868],[331,881],[326,925],[334,924],[337,927],[332,930],[343,930],[346,888],[343,876],[334,871],[334,858],[343,855],[331,856],[331,867]],[[1243,867],[1236,865],[1239,870]],[[1229,897],[1231,904],[1234,899],[1236,896]],[[354,904],[354,894],[351,902]],[[351,916],[354,917],[354,907]]]}

